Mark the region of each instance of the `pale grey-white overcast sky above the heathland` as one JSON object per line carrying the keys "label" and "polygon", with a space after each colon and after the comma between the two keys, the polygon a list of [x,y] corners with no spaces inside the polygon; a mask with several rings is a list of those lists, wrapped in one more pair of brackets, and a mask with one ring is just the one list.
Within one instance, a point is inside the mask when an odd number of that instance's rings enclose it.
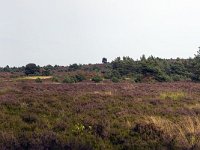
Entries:
{"label": "pale grey-white overcast sky above the heathland", "polygon": [[0,0],[0,66],[193,57],[199,0]]}

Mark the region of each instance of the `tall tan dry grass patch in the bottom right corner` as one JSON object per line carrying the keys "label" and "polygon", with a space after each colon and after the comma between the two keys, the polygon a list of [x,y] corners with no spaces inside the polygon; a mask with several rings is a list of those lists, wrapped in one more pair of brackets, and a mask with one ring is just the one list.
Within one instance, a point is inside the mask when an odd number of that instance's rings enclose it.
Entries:
{"label": "tall tan dry grass patch in the bottom right corner", "polygon": [[153,123],[174,139],[178,145],[193,148],[200,144],[200,119],[196,116],[183,116],[177,122],[157,116],[145,117],[147,123]]}

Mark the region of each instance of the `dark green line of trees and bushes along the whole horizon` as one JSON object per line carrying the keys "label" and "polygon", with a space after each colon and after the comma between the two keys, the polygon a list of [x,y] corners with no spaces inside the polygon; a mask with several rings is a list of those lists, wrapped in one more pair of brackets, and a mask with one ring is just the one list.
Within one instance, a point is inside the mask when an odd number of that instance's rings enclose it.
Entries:
{"label": "dark green line of trees and bushes along the whole horizon", "polygon": [[77,70],[95,71],[103,75],[105,79],[114,82],[131,80],[133,82],[169,82],[192,80],[200,81],[200,50],[194,58],[189,59],[161,59],[142,55],[139,60],[130,57],[117,57],[112,62],[107,58],[102,59],[102,64],[72,64],[69,66],[37,66],[34,63],[23,67],[3,67],[0,72],[21,72],[25,75],[48,76],[55,72],[72,72]]}

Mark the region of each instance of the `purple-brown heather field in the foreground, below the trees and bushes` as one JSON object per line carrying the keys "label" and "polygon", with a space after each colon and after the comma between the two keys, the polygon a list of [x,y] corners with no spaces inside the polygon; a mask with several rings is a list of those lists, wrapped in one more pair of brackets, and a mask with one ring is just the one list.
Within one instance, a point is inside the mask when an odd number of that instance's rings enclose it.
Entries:
{"label": "purple-brown heather field in the foreground, below the trees and bushes", "polygon": [[200,149],[200,84],[0,84],[0,149]]}

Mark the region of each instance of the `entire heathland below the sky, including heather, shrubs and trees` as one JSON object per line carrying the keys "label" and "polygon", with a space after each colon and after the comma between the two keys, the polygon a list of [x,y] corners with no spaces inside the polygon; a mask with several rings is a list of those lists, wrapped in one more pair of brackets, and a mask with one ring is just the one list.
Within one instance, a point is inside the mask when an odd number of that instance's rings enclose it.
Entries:
{"label": "entire heathland below the sky, including heather, shrubs and trees", "polygon": [[200,57],[0,68],[0,149],[200,149]]}

